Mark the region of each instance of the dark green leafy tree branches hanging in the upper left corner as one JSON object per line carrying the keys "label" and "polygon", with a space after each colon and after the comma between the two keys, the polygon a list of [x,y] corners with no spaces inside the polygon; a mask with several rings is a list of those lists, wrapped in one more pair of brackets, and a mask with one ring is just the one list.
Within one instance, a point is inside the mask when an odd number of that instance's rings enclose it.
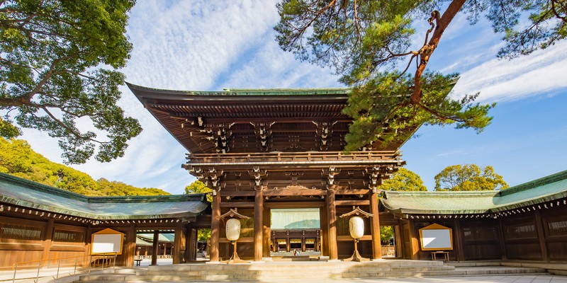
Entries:
{"label": "dark green leafy tree branches hanging in the upper left corner", "polygon": [[[124,155],[142,128],[118,107],[133,0],[0,2],[0,137],[39,129],[67,163]],[[100,67],[103,66],[103,67]],[[77,127],[90,120],[99,134]],[[95,154],[96,151],[96,154]]]}

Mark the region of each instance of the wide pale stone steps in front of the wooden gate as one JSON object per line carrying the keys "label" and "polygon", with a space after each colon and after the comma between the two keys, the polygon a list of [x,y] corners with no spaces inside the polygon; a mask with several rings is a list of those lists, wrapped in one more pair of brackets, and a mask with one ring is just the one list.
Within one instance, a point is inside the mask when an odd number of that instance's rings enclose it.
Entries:
{"label": "wide pale stone steps in front of the wooden gate", "polygon": [[439,261],[377,260],[371,262],[262,262],[256,264],[181,264],[132,269],[131,273],[82,275],[79,282],[194,282],[266,279],[342,279],[543,273],[541,268],[444,265]]}

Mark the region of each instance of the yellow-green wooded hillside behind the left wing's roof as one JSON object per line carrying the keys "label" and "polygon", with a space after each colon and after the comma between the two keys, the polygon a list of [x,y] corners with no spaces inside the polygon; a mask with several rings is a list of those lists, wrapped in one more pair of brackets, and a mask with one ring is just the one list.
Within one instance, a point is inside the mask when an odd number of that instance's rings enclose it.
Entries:
{"label": "yellow-green wooded hillside behind the left wing's roof", "polygon": [[20,139],[0,137],[0,172],[81,195],[169,195],[153,187],[134,187],[103,178],[95,181],[86,173],[49,161]]}

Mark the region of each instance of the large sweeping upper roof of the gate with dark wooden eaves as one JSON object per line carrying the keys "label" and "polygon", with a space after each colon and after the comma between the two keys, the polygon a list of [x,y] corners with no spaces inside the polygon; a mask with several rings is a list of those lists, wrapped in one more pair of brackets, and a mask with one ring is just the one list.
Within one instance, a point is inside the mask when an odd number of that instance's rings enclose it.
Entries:
{"label": "large sweeping upper roof of the gate with dark wooden eaves", "polygon": [[[191,128],[196,117],[203,117],[211,124],[286,120],[300,120],[308,125],[311,125],[310,121],[338,121],[344,125],[352,122],[351,117],[342,113],[350,88],[172,91],[132,83],[127,85],[145,108],[192,154],[215,153],[213,142],[203,139],[197,129]],[[347,129],[347,126],[343,127]],[[400,129],[397,139],[388,144],[375,141],[371,150],[396,151],[415,130],[417,127]]]}

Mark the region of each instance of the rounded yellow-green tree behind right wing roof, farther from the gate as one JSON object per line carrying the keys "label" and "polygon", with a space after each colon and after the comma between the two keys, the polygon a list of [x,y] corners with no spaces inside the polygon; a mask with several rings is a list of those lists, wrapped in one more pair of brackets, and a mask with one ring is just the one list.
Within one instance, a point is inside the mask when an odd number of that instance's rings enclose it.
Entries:
{"label": "rounded yellow-green tree behind right wing roof, farther from the gate", "polygon": [[508,187],[492,166],[453,165],[435,175],[435,190],[502,190]]}

